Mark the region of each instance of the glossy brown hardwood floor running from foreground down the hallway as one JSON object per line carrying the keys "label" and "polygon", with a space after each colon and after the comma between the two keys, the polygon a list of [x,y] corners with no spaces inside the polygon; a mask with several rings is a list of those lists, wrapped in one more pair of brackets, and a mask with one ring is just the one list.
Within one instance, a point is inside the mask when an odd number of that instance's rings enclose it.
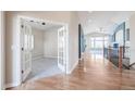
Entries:
{"label": "glossy brown hardwood floor running from foreground down the hallway", "polygon": [[70,75],[29,80],[11,90],[119,90],[135,89],[135,71],[119,70],[97,54],[84,54]]}

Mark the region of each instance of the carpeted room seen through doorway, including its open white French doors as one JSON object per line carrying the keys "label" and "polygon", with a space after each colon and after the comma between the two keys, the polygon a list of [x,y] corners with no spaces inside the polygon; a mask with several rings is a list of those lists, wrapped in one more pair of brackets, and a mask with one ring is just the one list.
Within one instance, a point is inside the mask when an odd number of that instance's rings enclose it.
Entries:
{"label": "carpeted room seen through doorway, including its open white French doors", "polygon": [[[65,72],[65,27],[40,20],[21,20],[22,80],[35,80]],[[63,66],[64,67],[64,66]]]}

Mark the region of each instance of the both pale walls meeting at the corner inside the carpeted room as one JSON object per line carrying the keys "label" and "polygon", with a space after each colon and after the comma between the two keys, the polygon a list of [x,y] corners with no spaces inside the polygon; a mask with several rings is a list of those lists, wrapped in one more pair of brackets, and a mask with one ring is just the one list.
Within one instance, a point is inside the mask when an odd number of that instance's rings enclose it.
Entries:
{"label": "both pale walls meeting at the corner inside the carpeted room", "polygon": [[34,35],[33,59],[58,56],[58,28],[41,30],[32,28]]}

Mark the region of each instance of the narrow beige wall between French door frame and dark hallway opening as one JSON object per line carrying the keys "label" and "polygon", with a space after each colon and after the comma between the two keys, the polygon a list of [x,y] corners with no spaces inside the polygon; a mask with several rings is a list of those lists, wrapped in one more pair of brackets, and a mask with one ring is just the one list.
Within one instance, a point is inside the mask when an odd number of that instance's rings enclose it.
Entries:
{"label": "narrow beige wall between French door frame and dark hallway opening", "polygon": [[71,73],[78,63],[78,16],[77,12],[71,13],[69,35],[69,68]]}

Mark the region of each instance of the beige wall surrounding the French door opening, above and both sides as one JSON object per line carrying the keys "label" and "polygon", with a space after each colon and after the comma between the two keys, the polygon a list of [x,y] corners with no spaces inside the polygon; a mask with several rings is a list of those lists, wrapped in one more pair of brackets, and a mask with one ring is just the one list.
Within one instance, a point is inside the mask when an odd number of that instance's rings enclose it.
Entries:
{"label": "beige wall surrounding the French door opening, above and both sides", "polygon": [[[52,22],[60,22],[69,25],[69,67],[68,71],[71,72],[74,68],[74,65],[77,63],[78,60],[78,18],[76,12],[66,12],[66,11],[50,11],[50,12],[7,12],[5,20],[7,20],[7,31],[5,31],[5,77],[7,77],[7,85],[8,87],[17,86],[20,85],[20,74],[21,70],[19,70],[19,65],[21,60],[14,59],[13,55],[19,56],[16,51],[19,51],[19,46],[16,45],[14,38],[17,36],[16,31],[16,20],[17,15],[27,16],[27,17],[35,17],[41,20],[48,20]],[[13,49],[14,48],[14,49]],[[19,62],[16,62],[16,60]]]}

